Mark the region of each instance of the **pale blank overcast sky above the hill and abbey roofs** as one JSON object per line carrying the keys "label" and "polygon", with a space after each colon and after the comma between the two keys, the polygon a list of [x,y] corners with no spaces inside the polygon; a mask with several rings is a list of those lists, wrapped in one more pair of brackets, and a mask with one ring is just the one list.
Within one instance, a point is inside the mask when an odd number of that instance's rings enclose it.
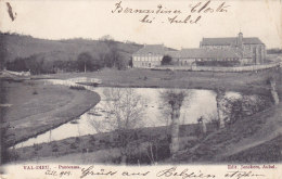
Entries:
{"label": "pale blank overcast sky above the hill and abbey roofs", "polygon": [[[155,17],[152,24],[141,23],[145,14],[112,13],[112,1],[60,0],[9,1],[15,20],[9,17],[7,1],[0,2],[1,31],[30,35],[44,39],[91,38],[111,35],[114,39],[139,43],[164,43],[180,49],[197,48],[203,37],[234,37],[241,30],[244,37],[259,37],[267,48],[282,47],[281,2],[279,0],[230,1],[226,2],[227,13],[194,13],[202,15],[197,24],[169,24],[167,17]],[[123,1],[121,5],[132,9],[156,10],[158,4],[167,10],[180,10],[180,17],[191,14],[193,1]],[[222,1],[211,1],[216,9]]]}

